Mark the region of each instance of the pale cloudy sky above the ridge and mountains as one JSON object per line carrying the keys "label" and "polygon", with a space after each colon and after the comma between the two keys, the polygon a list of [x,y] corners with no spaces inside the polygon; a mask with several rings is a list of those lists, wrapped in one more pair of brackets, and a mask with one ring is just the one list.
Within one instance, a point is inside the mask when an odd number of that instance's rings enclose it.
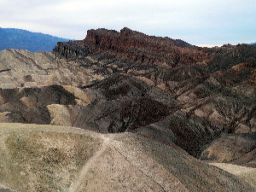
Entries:
{"label": "pale cloudy sky above the ridge and mountains", "polygon": [[189,44],[256,42],[255,0],[0,0],[0,27],[84,39],[124,26]]}

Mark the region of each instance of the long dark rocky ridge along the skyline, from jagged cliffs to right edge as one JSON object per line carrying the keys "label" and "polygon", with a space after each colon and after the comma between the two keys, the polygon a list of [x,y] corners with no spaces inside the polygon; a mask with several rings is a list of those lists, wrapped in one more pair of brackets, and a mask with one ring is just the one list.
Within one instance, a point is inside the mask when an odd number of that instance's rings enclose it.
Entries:
{"label": "long dark rocky ridge along the skyline, from jagged cliffs to right edge", "polygon": [[179,39],[148,36],[125,27],[120,32],[89,30],[84,40],[58,43],[55,54],[67,59],[83,58],[100,52],[127,58],[130,62],[150,63],[161,67],[207,65],[208,71],[226,70],[244,62],[255,67],[255,44],[226,44],[212,49],[198,48]]}

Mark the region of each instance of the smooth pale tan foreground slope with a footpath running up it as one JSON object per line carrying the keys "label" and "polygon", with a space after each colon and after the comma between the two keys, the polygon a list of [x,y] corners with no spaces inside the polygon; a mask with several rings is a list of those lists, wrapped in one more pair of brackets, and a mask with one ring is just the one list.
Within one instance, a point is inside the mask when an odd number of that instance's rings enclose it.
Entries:
{"label": "smooth pale tan foreground slope with a footpath running up it", "polygon": [[256,191],[133,133],[0,124],[0,183],[15,191]]}

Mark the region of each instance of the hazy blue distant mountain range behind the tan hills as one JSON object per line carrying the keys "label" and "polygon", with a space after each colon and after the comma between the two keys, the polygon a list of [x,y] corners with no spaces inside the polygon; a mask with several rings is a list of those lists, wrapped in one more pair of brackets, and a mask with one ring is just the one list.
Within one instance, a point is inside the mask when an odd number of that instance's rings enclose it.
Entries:
{"label": "hazy blue distant mountain range behind the tan hills", "polygon": [[28,32],[22,29],[0,27],[0,50],[27,49],[31,52],[51,51],[57,42],[70,39],[57,38],[40,32]]}

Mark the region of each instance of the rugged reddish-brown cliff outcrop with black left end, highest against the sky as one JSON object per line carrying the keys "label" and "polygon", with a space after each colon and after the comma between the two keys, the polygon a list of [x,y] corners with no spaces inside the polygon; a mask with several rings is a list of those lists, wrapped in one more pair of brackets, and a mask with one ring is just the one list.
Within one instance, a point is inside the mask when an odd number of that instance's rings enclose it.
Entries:
{"label": "rugged reddish-brown cliff outcrop with black left end, highest against the sky", "polygon": [[91,52],[105,52],[131,61],[174,67],[207,61],[207,52],[182,40],[157,38],[123,28],[120,32],[89,30],[83,41],[57,44],[53,50],[66,58],[77,58]]}

